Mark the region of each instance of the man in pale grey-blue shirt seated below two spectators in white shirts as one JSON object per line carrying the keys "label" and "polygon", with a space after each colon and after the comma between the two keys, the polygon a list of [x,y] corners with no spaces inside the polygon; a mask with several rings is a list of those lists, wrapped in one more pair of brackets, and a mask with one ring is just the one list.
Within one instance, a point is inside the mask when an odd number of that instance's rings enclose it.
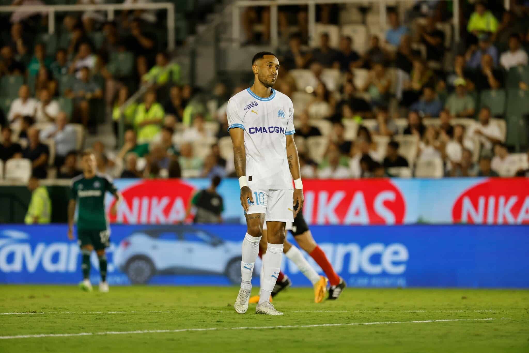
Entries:
{"label": "man in pale grey-blue shirt seated below two spectators in white shirts", "polygon": [[68,124],[68,115],[65,112],[59,112],[55,124],[40,132],[40,139],[55,141],[55,165],[58,167],[62,166],[68,152],[76,149],[77,135],[74,126]]}

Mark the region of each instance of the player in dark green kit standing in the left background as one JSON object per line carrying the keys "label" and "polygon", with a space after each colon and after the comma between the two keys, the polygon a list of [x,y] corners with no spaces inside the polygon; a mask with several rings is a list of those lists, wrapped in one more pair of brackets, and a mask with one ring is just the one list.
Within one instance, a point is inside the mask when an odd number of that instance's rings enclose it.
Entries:
{"label": "player in dark green kit standing in the left background", "polygon": [[86,150],[81,153],[83,174],[71,180],[71,196],[68,204],[68,238],[74,240],[74,215],[76,204],[77,213],[77,242],[83,255],[83,281],[79,287],[85,291],[92,291],[90,284],[90,254],[95,250],[99,258],[99,271],[101,282],[99,291],[108,292],[106,282],[106,255],[105,248],[110,246],[110,228],[105,215],[105,193],[108,191],[117,198],[110,213],[116,214],[118,204],[122,200],[112,180],[106,175],[96,173],[96,157],[93,151]]}

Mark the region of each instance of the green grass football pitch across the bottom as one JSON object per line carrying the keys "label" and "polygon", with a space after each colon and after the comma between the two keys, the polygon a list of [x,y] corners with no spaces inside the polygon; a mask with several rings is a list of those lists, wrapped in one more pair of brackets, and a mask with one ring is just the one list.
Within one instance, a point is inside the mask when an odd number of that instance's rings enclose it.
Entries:
{"label": "green grass football pitch across the bottom", "polygon": [[2,285],[0,352],[529,352],[529,291],[291,288],[282,316],[235,313],[237,292]]}

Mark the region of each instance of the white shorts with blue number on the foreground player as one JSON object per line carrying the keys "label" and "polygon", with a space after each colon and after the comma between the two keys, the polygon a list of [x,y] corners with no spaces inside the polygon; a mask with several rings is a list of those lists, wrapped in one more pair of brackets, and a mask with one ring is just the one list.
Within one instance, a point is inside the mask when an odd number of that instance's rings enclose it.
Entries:
{"label": "white shorts with blue number on the foreground player", "polygon": [[[264,213],[265,221],[294,222],[294,190],[251,188],[253,202],[248,200],[248,212]],[[265,223],[266,224],[266,223]]]}

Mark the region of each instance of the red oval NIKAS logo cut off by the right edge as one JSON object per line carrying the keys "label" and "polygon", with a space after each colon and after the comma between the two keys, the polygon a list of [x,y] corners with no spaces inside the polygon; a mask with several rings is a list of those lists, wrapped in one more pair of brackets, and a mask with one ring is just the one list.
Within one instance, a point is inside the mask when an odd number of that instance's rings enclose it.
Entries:
{"label": "red oval NIKAS logo cut off by the right edge", "polygon": [[529,179],[487,179],[468,188],[454,202],[452,221],[529,224]]}

